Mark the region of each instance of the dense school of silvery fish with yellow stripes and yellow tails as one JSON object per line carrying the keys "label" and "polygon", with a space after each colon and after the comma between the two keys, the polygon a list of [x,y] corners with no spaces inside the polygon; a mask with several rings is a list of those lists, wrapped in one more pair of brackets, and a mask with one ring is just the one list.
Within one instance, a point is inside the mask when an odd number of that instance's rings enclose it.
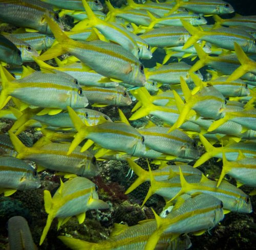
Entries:
{"label": "dense school of silvery fish with yellow stripes and yellow tails", "polygon": [[[43,170],[63,177],[54,194],[44,190],[48,218],[35,242],[41,245],[54,218],[59,228],[72,216],[83,223],[86,211],[110,208],[90,180],[100,174],[97,161],[127,162],[138,178],[125,194],[150,182],[139,205],[158,194],[166,210],[160,216],[153,210],[155,219],[135,226],[115,224],[98,243],[58,238],[71,249],[188,249],[188,233],[201,235],[226,213],[255,209],[256,16],[234,14],[222,0],[114,6],[0,0],[0,118],[13,123],[0,134],[0,193],[40,188]],[[64,16],[74,20],[69,30]],[[119,121],[104,112],[110,105],[118,107]],[[129,106],[126,118],[122,109]],[[131,125],[142,117],[147,124]],[[31,128],[41,138],[25,145],[19,134]],[[217,180],[201,171],[213,157],[222,161]],[[138,165],[140,158],[159,168]],[[22,217],[10,219],[10,245],[15,237],[24,244],[15,223],[34,247]]]}

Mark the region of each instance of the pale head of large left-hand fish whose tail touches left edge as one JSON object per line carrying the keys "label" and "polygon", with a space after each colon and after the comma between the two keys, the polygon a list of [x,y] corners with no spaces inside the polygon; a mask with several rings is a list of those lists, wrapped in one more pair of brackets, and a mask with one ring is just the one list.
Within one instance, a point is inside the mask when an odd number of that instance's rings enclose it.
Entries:
{"label": "pale head of large left-hand fish whose tail touches left edge", "polygon": [[89,101],[84,93],[85,91],[82,90],[76,79],[73,81],[73,90],[69,106],[73,109],[85,108],[89,105]]}

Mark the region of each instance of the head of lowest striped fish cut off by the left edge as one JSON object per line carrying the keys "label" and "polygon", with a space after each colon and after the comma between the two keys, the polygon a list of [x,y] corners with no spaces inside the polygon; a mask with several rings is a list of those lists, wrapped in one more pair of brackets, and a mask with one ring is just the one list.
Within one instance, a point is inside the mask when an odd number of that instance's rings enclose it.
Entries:
{"label": "head of lowest striped fish cut off by the left edge", "polygon": [[35,189],[41,186],[40,179],[38,177],[37,171],[32,166],[27,170],[25,175],[20,179],[18,189],[27,190]]}

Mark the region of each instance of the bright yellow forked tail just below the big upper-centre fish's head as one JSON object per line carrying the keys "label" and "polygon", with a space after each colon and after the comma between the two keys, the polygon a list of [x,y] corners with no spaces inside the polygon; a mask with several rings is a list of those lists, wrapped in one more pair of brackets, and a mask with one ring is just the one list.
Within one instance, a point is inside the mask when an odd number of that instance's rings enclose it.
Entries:
{"label": "bright yellow forked tail just below the big upper-centre fish's head", "polygon": [[[155,108],[155,105],[151,103],[151,95],[148,93],[145,87],[130,91],[138,101],[142,103],[140,109],[138,109],[130,118],[129,120],[137,120],[141,117],[150,114],[150,111]],[[132,110],[133,112],[134,110]]]}

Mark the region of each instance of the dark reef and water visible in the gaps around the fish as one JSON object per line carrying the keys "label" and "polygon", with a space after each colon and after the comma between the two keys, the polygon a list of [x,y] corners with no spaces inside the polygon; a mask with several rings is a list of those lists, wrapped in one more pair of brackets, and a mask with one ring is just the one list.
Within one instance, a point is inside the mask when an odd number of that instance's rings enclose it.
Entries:
{"label": "dark reef and water visible in the gaps around the fish", "polygon": [[[108,9],[103,0],[100,0],[103,5],[103,12],[107,13]],[[230,3],[236,13],[241,15],[256,15],[255,2],[253,0],[226,0]],[[126,4],[125,0],[111,1],[115,8]],[[234,15],[222,15],[222,18],[230,18]],[[212,17],[206,17],[208,24],[214,23]],[[70,30],[74,26],[73,18],[70,16],[63,16],[60,18],[66,30]],[[16,28],[9,24],[8,26],[0,27],[1,32],[12,33]],[[165,54],[163,49],[157,49],[150,60],[140,60],[144,67],[152,68],[156,63],[162,63]],[[65,56],[59,58],[65,59]],[[190,59],[182,59],[189,65],[193,65],[198,59],[191,62]],[[171,58],[169,62],[178,62],[176,58]],[[56,66],[54,60],[49,60],[50,65]],[[35,70],[39,70],[35,62],[23,63],[23,65],[30,66]],[[200,69],[204,79],[208,77],[206,66]],[[134,101],[130,106],[115,106],[110,105],[106,107],[92,107],[87,108],[97,110],[105,115],[108,115],[113,121],[120,120],[118,108],[122,110],[125,117],[128,119],[132,115],[132,109],[136,102]],[[5,108],[14,106],[9,103]],[[161,125],[161,119],[150,115],[137,120],[131,120],[130,124],[135,128],[145,126],[148,120]],[[12,127],[14,121],[0,118],[0,132],[6,134]],[[31,147],[41,137],[40,131],[30,128],[19,135],[19,139]],[[255,140],[254,140],[255,142]],[[124,142],[125,143],[125,142]],[[203,147],[199,146],[200,154],[203,154]],[[152,162],[148,159],[148,162]],[[146,159],[140,158],[136,162],[143,169],[148,171],[148,163]],[[169,161],[173,164],[174,161]],[[193,165],[195,161],[190,162]],[[164,198],[160,195],[153,194],[145,205],[141,208],[141,204],[150,188],[149,182],[144,182],[129,194],[124,194],[125,190],[129,188],[137,179],[135,173],[131,174],[129,164],[125,161],[103,160],[97,161],[100,173],[92,178],[89,178],[97,185],[97,192],[99,199],[109,204],[109,209],[105,210],[89,210],[86,212],[86,219],[79,224],[76,217],[71,217],[70,220],[57,230],[57,219],[55,218],[51,224],[47,238],[44,243],[39,246],[42,230],[45,227],[47,220],[47,213],[44,206],[44,190],[49,190],[53,196],[55,191],[60,186],[60,179],[62,176],[56,175],[53,170],[45,170],[39,172],[40,188],[24,190],[17,190],[11,196],[0,196],[0,250],[8,247],[8,230],[7,222],[13,216],[23,216],[28,221],[31,230],[33,241],[37,249],[70,249],[60,241],[57,236],[72,236],[89,242],[99,242],[107,239],[113,230],[114,223],[124,223],[128,226],[134,226],[139,221],[145,219],[154,219],[154,213],[151,208],[159,214],[165,206]],[[151,163],[152,170],[158,168],[158,165]],[[217,158],[207,160],[202,166],[198,167],[211,180],[218,179],[222,169],[222,161],[217,161]],[[228,177],[228,181],[236,185],[236,180]],[[240,187],[242,191],[249,194],[253,188],[243,185]],[[189,234],[191,246],[189,249],[254,249],[256,245],[256,224],[255,224],[255,208],[256,197],[250,196],[252,205],[251,213],[235,213],[230,212],[225,214],[223,220],[209,231],[206,231],[200,236]],[[180,249],[180,248],[172,248]],[[183,248],[181,248],[183,249]]]}

